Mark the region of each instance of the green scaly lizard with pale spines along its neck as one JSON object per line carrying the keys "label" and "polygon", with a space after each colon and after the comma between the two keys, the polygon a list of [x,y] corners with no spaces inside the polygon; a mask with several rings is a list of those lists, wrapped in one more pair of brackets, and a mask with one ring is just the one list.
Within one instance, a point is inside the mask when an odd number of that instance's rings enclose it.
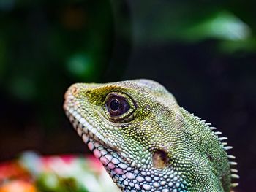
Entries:
{"label": "green scaly lizard with pale spines along its neck", "polygon": [[153,80],[75,83],[64,110],[121,191],[230,191],[227,137]]}

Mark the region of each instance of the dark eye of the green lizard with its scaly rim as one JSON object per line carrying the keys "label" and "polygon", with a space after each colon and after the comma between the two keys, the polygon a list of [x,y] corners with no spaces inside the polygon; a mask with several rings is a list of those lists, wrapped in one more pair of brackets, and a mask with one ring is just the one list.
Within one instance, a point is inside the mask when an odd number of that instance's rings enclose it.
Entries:
{"label": "dark eye of the green lizard with its scaly rim", "polygon": [[105,99],[107,115],[112,120],[122,120],[132,115],[135,104],[129,96],[124,93],[109,93]]}

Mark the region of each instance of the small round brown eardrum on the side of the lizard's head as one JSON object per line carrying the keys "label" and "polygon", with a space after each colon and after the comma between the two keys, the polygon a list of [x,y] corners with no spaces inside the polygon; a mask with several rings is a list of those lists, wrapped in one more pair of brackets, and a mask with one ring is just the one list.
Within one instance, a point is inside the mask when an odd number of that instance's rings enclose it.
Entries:
{"label": "small round brown eardrum on the side of the lizard's head", "polygon": [[163,169],[169,165],[170,158],[168,158],[165,150],[156,150],[153,154],[153,166],[157,169]]}

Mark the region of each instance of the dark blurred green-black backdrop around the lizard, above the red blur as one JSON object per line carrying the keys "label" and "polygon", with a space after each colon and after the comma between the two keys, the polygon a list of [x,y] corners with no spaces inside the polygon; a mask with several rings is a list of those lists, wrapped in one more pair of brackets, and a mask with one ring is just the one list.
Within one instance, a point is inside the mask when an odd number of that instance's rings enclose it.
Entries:
{"label": "dark blurred green-black backdrop around the lizard, above the red blur", "polygon": [[62,110],[74,82],[156,80],[234,148],[256,191],[255,1],[0,0],[0,161],[89,153]]}

